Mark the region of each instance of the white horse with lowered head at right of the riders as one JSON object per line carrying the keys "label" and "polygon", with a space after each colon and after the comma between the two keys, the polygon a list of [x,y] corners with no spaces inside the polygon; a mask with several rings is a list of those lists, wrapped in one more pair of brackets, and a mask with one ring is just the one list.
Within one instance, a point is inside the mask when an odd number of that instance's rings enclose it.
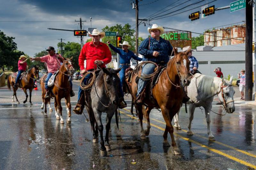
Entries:
{"label": "white horse with lowered head at right of the riders", "polygon": [[[233,77],[229,81],[225,81],[223,78],[212,77],[209,75],[203,75],[196,73],[194,78],[187,88],[189,100],[189,123],[188,123],[188,135],[193,135],[191,131],[191,122],[194,118],[194,111],[196,107],[204,107],[205,117],[207,122],[207,133],[209,140],[215,140],[212,135],[210,123],[210,112],[212,110],[212,101],[215,95],[218,95],[220,102],[223,104],[224,109],[228,113],[235,111],[235,104],[233,96],[235,91],[232,87]],[[180,130],[179,125],[179,112],[174,116],[174,127]]]}

